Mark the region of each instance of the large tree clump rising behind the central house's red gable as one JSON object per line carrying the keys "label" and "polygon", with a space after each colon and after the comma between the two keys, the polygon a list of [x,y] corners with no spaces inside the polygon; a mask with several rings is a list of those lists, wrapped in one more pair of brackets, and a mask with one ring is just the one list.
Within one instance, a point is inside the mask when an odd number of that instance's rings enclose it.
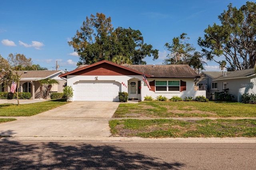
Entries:
{"label": "large tree clump rising behind the central house's red gable", "polygon": [[86,17],[80,30],[68,44],[80,57],[79,63],[92,64],[102,60],[112,61],[114,57],[124,56],[133,64],[146,64],[143,59],[153,55],[158,58],[158,50],[144,43],[142,33],[118,27],[114,29],[111,18],[102,13]]}

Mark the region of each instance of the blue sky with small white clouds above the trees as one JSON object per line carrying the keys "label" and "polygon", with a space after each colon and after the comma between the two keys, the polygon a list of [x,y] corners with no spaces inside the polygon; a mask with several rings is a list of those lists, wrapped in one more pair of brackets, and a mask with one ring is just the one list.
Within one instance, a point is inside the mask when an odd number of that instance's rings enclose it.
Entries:
{"label": "blue sky with small white clouds above the trees", "polygon": [[[96,12],[111,17],[114,28],[131,27],[141,31],[144,43],[159,50],[155,61],[162,64],[168,51],[165,43],[187,33],[197,51],[204,29],[219,23],[218,15],[228,4],[240,8],[247,0],[3,0],[0,3],[0,55],[24,54],[33,64],[55,70],[76,68],[79,61],[68,41],[80,29],[86,16]],[[206,70],[220,71],[218,64],[206,61]]]}

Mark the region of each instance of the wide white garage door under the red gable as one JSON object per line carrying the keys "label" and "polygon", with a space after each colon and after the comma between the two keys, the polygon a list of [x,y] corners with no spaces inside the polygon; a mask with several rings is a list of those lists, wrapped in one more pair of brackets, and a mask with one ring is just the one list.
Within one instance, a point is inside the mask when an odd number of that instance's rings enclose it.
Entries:
{"label": "wide white garage door under the red gable", "polygon": [[115,81],[80,81],[74,84],[74,101],[118,101],[120,91]]}

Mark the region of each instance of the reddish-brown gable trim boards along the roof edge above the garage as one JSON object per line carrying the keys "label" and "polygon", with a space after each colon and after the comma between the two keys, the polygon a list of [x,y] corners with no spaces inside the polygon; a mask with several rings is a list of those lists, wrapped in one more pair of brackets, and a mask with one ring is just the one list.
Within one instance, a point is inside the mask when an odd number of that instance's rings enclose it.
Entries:
{"label": "reddish-brown gable trim boards along the roof edge above the garage", "polygon": [[[82,68],[78,68],[78,69],[76,69],[76,70],[73,70],[73,71],[70,71],[70,72],[61,74],[60,77],[67,78],[68,75],[72,75],[72,74],[74,75],[74,74],[76,74],[76,72],[80,72],[80,71],[82,71],[82,70],[86,70],[86,69],[88,69],[88,68],[92,68],[92,67],[97,66],[97,65],[102,64],[102,63],[111,64],[111,65],[113,65],[113,66],[116,66],[116,67],[123,68],[123,69],[128,70],[128,71],[134,72],[134,73],[136,73],[136,74],[140,74],[140,75],[143,74],[143,72],[139,72],[139,71],[137,71],[137,70],[133,70],[133,69],[131,69],[131,68],[128,68],[128,67],[125,67],[125,66],[116,64],[116,63],[112,63],[112,62],[110,62],[110,61],[103,60],[103,61],[100,61],[100,62],[98,62],[98,63],[94,63],[94,64],[91,64],[91,65],[88,65],[88,66],[85,66],[85,67],[82,67]],[[144,73],[144,75],[145,75],[147,78],[150,77],[149,74]]]}

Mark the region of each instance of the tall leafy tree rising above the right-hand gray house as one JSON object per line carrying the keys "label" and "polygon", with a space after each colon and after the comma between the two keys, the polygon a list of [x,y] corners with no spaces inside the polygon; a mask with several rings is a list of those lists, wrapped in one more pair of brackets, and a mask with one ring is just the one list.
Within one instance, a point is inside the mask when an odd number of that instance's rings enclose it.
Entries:
{"label": "tall leafy tree rising above the right-hand gray house", "polygon": [[240,9],[228,5],[228,10],[218,16],[220,24],[214,23],[204,30],[198,45],[209,61],[222,67],[224,57],[228,70],[254,68],[256,64],[256,3],[246,2]]}

